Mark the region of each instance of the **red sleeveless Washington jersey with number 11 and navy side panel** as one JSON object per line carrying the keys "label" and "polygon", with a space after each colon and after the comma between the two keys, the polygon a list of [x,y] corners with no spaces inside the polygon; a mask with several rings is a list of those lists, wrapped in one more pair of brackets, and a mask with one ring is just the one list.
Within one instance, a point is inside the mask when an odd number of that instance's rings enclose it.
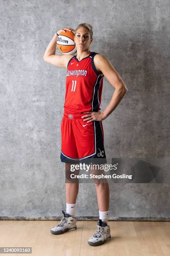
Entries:
{"label": "red sleeveless Washington jersey with number 11 and navy side panel", "polygon": [[104,75],[94,65],[95,52],[78,60],[73,56],[67,64],[64,112],[68,114],[100,110]]}

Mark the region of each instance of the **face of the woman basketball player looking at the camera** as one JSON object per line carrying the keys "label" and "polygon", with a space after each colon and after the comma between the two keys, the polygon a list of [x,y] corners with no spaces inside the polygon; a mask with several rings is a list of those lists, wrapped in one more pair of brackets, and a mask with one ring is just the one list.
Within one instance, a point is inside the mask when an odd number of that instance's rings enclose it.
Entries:
{"label": "face of the woman basketball player looking at the camera", "polygon": [[90,32],[88,29],[84,27],[78,28],[74,36],[74,41],[77,49],[88,49],[92,42],[92,38],[90,38]]}

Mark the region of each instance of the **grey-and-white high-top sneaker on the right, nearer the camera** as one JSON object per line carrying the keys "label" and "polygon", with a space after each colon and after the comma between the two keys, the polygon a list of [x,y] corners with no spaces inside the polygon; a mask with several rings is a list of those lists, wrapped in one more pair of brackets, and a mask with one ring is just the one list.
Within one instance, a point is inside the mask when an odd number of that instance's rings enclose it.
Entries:
{"label": "grey-and-white high-top sneaker on the right, nearer the camera", "polygon": [[102,222],[102,220],[97,221],[97,231],[96,233],[88,240],[88,244],[92,246],[99,246],[111,239],[110,227],[107,223]]}

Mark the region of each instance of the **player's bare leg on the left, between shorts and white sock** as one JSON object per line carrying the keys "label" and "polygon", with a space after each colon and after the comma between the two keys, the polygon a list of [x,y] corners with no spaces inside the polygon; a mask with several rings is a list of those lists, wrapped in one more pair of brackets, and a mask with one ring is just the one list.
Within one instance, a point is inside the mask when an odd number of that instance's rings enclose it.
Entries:
{"label": "player's bare leg on the left, between shorts and white sock", "polygon": [[79,189],[79,181],[78,179],[72,179],[70,178],[70,174],[79,174],[79,170],[75,170],[74,172],[70,171],[70,165],[69,163],[65,163],[65,194],[66,194],[66,202],[67,204],[75,204],[77,195],[78,195],[78,189]]}

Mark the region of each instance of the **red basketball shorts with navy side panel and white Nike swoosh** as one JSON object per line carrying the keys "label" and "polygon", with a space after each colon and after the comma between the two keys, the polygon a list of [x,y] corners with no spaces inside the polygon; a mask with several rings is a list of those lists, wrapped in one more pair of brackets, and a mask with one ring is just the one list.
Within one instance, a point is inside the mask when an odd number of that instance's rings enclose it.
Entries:
{"label": "red basketball shorts with navy side panel and white Nike swoosh", "polygon": [[84,160],[100,159],[107,163],[104,148],[102,121],[87,123],[81,118],[86,113],[66,114],[61,121],[61,155],[65,163],[82,163]]}

